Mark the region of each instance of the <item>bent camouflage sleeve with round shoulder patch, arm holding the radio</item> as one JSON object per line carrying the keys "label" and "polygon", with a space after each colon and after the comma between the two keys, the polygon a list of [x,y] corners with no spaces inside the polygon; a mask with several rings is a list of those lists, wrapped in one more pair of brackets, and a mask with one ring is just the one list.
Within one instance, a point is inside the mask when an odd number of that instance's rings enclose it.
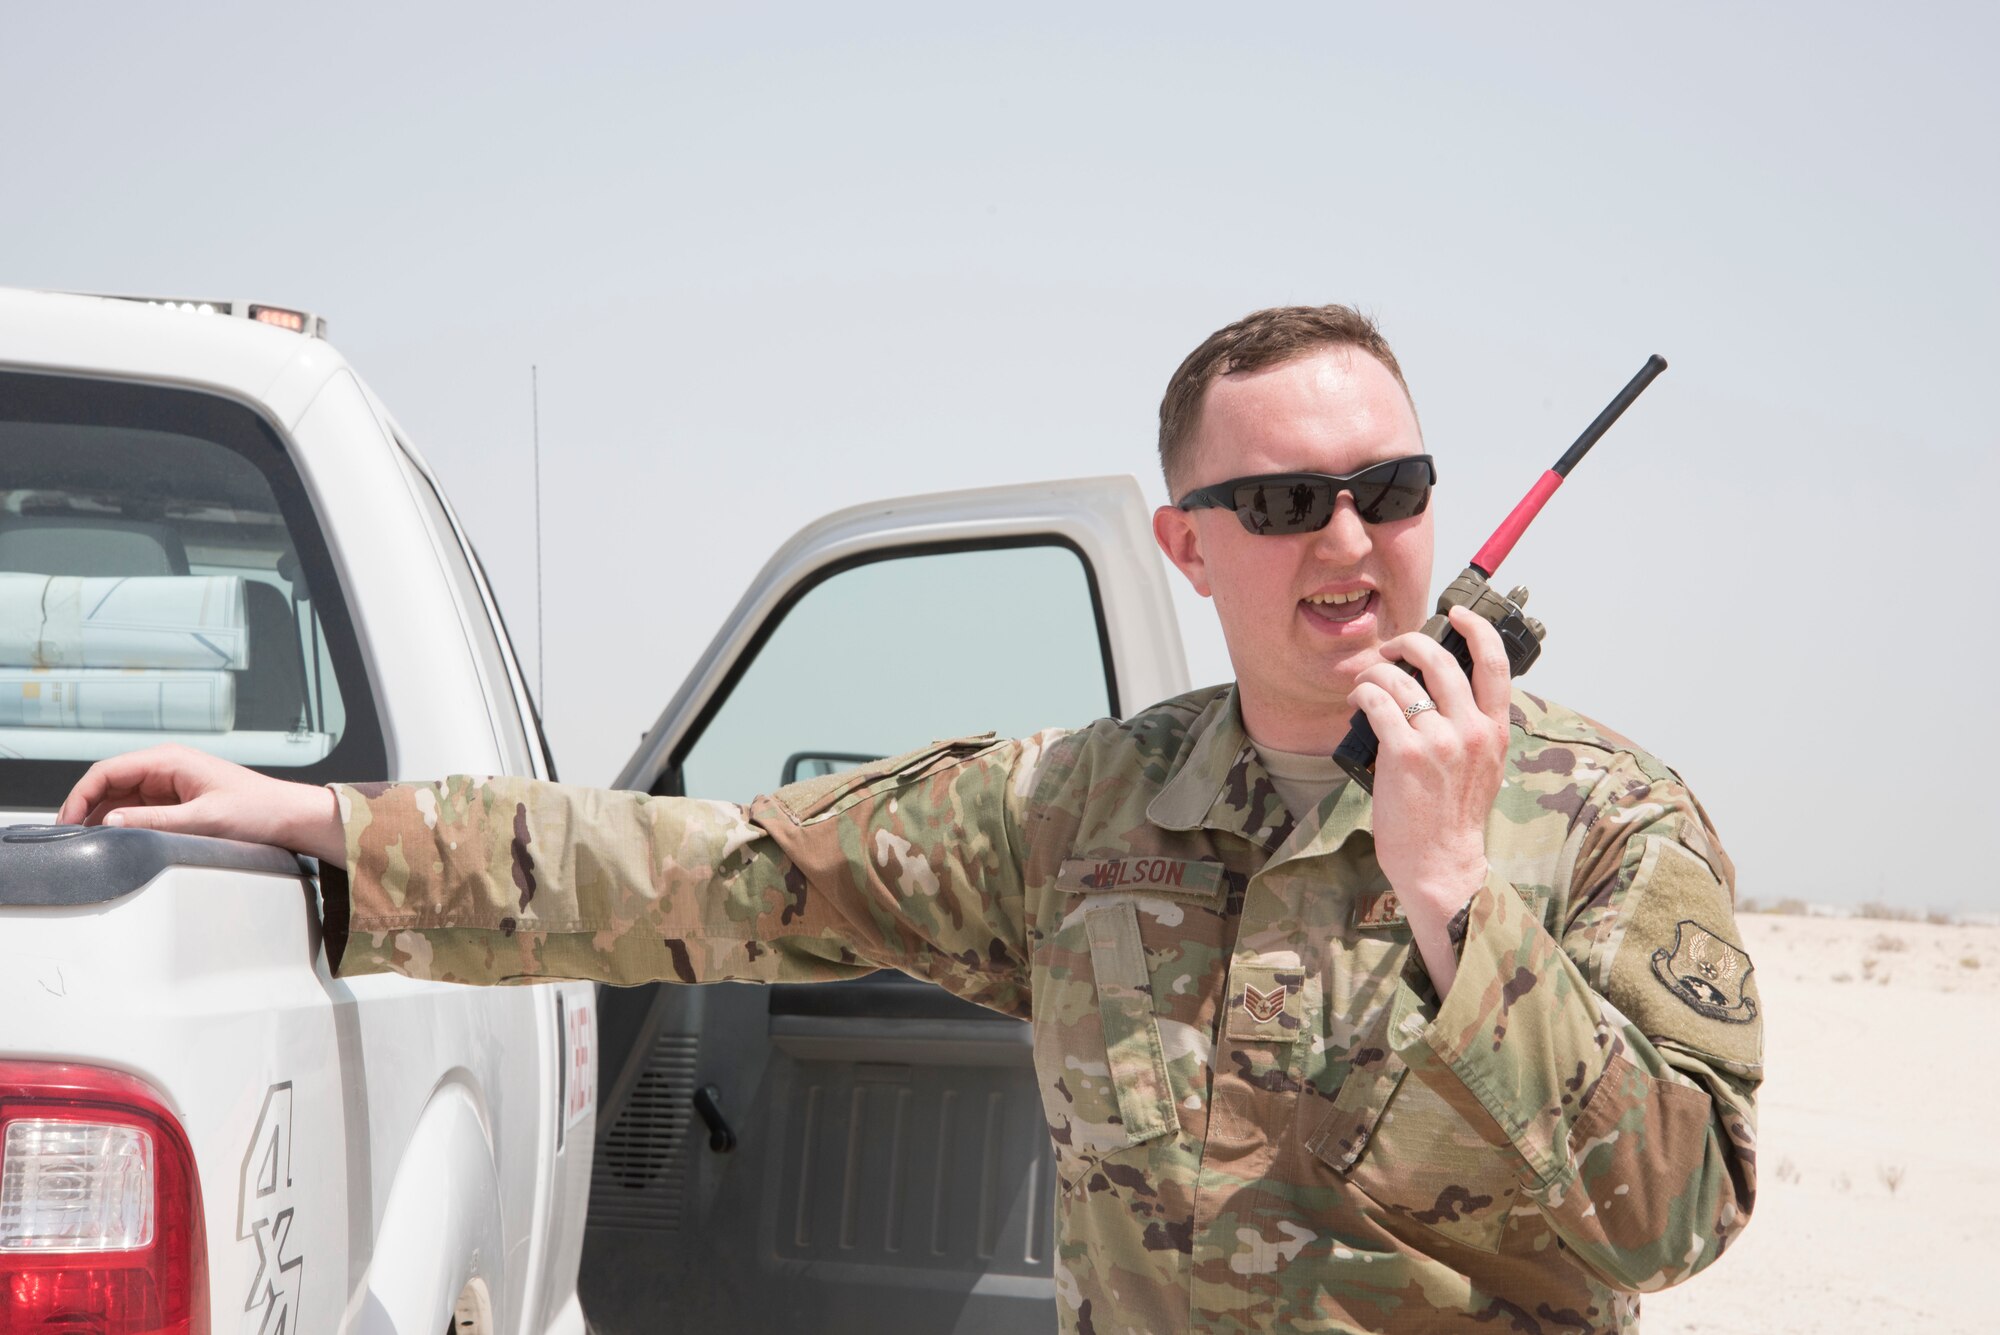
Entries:
{"label": "bent camouflage sleeve with round shoulder patch, arm holding the radio", "polygon": [[1516,1155],[1584,1265],[1650,1291],[1714,1261],[1748,1223],[1762,1015],[1734,871],[1680,779],[1642,751],[1558,777],[1570,787],[1540,795],[1580,799],[1562,937],[1532,895],[1488,877],[1450,995],[1404,987],[1388,1035]]}

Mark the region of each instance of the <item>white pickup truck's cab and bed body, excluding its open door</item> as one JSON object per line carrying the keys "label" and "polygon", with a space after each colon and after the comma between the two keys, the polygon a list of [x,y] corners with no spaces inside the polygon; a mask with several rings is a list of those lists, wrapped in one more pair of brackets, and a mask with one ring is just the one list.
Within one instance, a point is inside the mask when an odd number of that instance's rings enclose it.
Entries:
{"label": "white pickup truck's cab and bed body, excluding its open door", "polygon": [[590,985],[334,979],[292,855],[34,827],[158,741],[550,769],[394,422],[200,306],[0,292],[0,1331],[580,1335]]}

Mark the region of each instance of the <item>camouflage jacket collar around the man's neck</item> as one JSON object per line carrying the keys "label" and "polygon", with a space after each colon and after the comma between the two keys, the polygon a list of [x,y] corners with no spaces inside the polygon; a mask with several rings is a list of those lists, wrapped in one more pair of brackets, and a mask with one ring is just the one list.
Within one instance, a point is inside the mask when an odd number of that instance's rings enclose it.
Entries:
{"label": "camouflage jacket collar around the man's neck", "polygon": [[1294,829],[1284,797],[1244,731],[1234,685],[1196,715],[1166,783],[1146,805],[1146,819],[1162,829],[1220,829],[1266,849],[1302,845],[1300,853],[1340,847],[1350,833],[1368,829],[1372,815],[1368,793],[1342,783],[1314,819]]}

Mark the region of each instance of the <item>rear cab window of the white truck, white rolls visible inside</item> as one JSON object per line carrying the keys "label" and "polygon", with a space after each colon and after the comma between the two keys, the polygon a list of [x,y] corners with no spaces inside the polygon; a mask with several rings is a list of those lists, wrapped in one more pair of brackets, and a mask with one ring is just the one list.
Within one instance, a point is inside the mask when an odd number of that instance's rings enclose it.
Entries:
{"label": "rear cab window of the white truck, white rolls visible inside", "polygon": [[0,372],[0,805],[178,741],[384,777],[346,602],[272,428],[164,386]]}

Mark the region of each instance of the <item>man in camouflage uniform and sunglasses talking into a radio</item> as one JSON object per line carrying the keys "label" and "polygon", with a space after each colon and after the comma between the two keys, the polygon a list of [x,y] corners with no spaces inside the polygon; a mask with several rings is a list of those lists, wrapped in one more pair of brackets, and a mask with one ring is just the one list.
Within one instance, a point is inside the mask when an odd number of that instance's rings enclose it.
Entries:
{"label": "man in camouflage uniform and sunglasses talking into a radio", "polygon": [[[1420,444],[1344,308],[1218,332],[1162,404],[1174,496]],[[1730,863],[1660,761],[1510,691],[1484,622],[1454,618],[1470,681],[1408,634],[1430,518],[1368,522],[1364,490],[1284,536],[1162,508],[1238,683],[1126,721],[940,741],[748,807],[528,779],[328,803],[154,751],[62,815],[318,853],[342,975],[896,967],[1030,1021],[1066,1331],[1630,1331],[1754,1197]],[[1382,737],[1374,797],[1326,761],[1350,697]]]}

